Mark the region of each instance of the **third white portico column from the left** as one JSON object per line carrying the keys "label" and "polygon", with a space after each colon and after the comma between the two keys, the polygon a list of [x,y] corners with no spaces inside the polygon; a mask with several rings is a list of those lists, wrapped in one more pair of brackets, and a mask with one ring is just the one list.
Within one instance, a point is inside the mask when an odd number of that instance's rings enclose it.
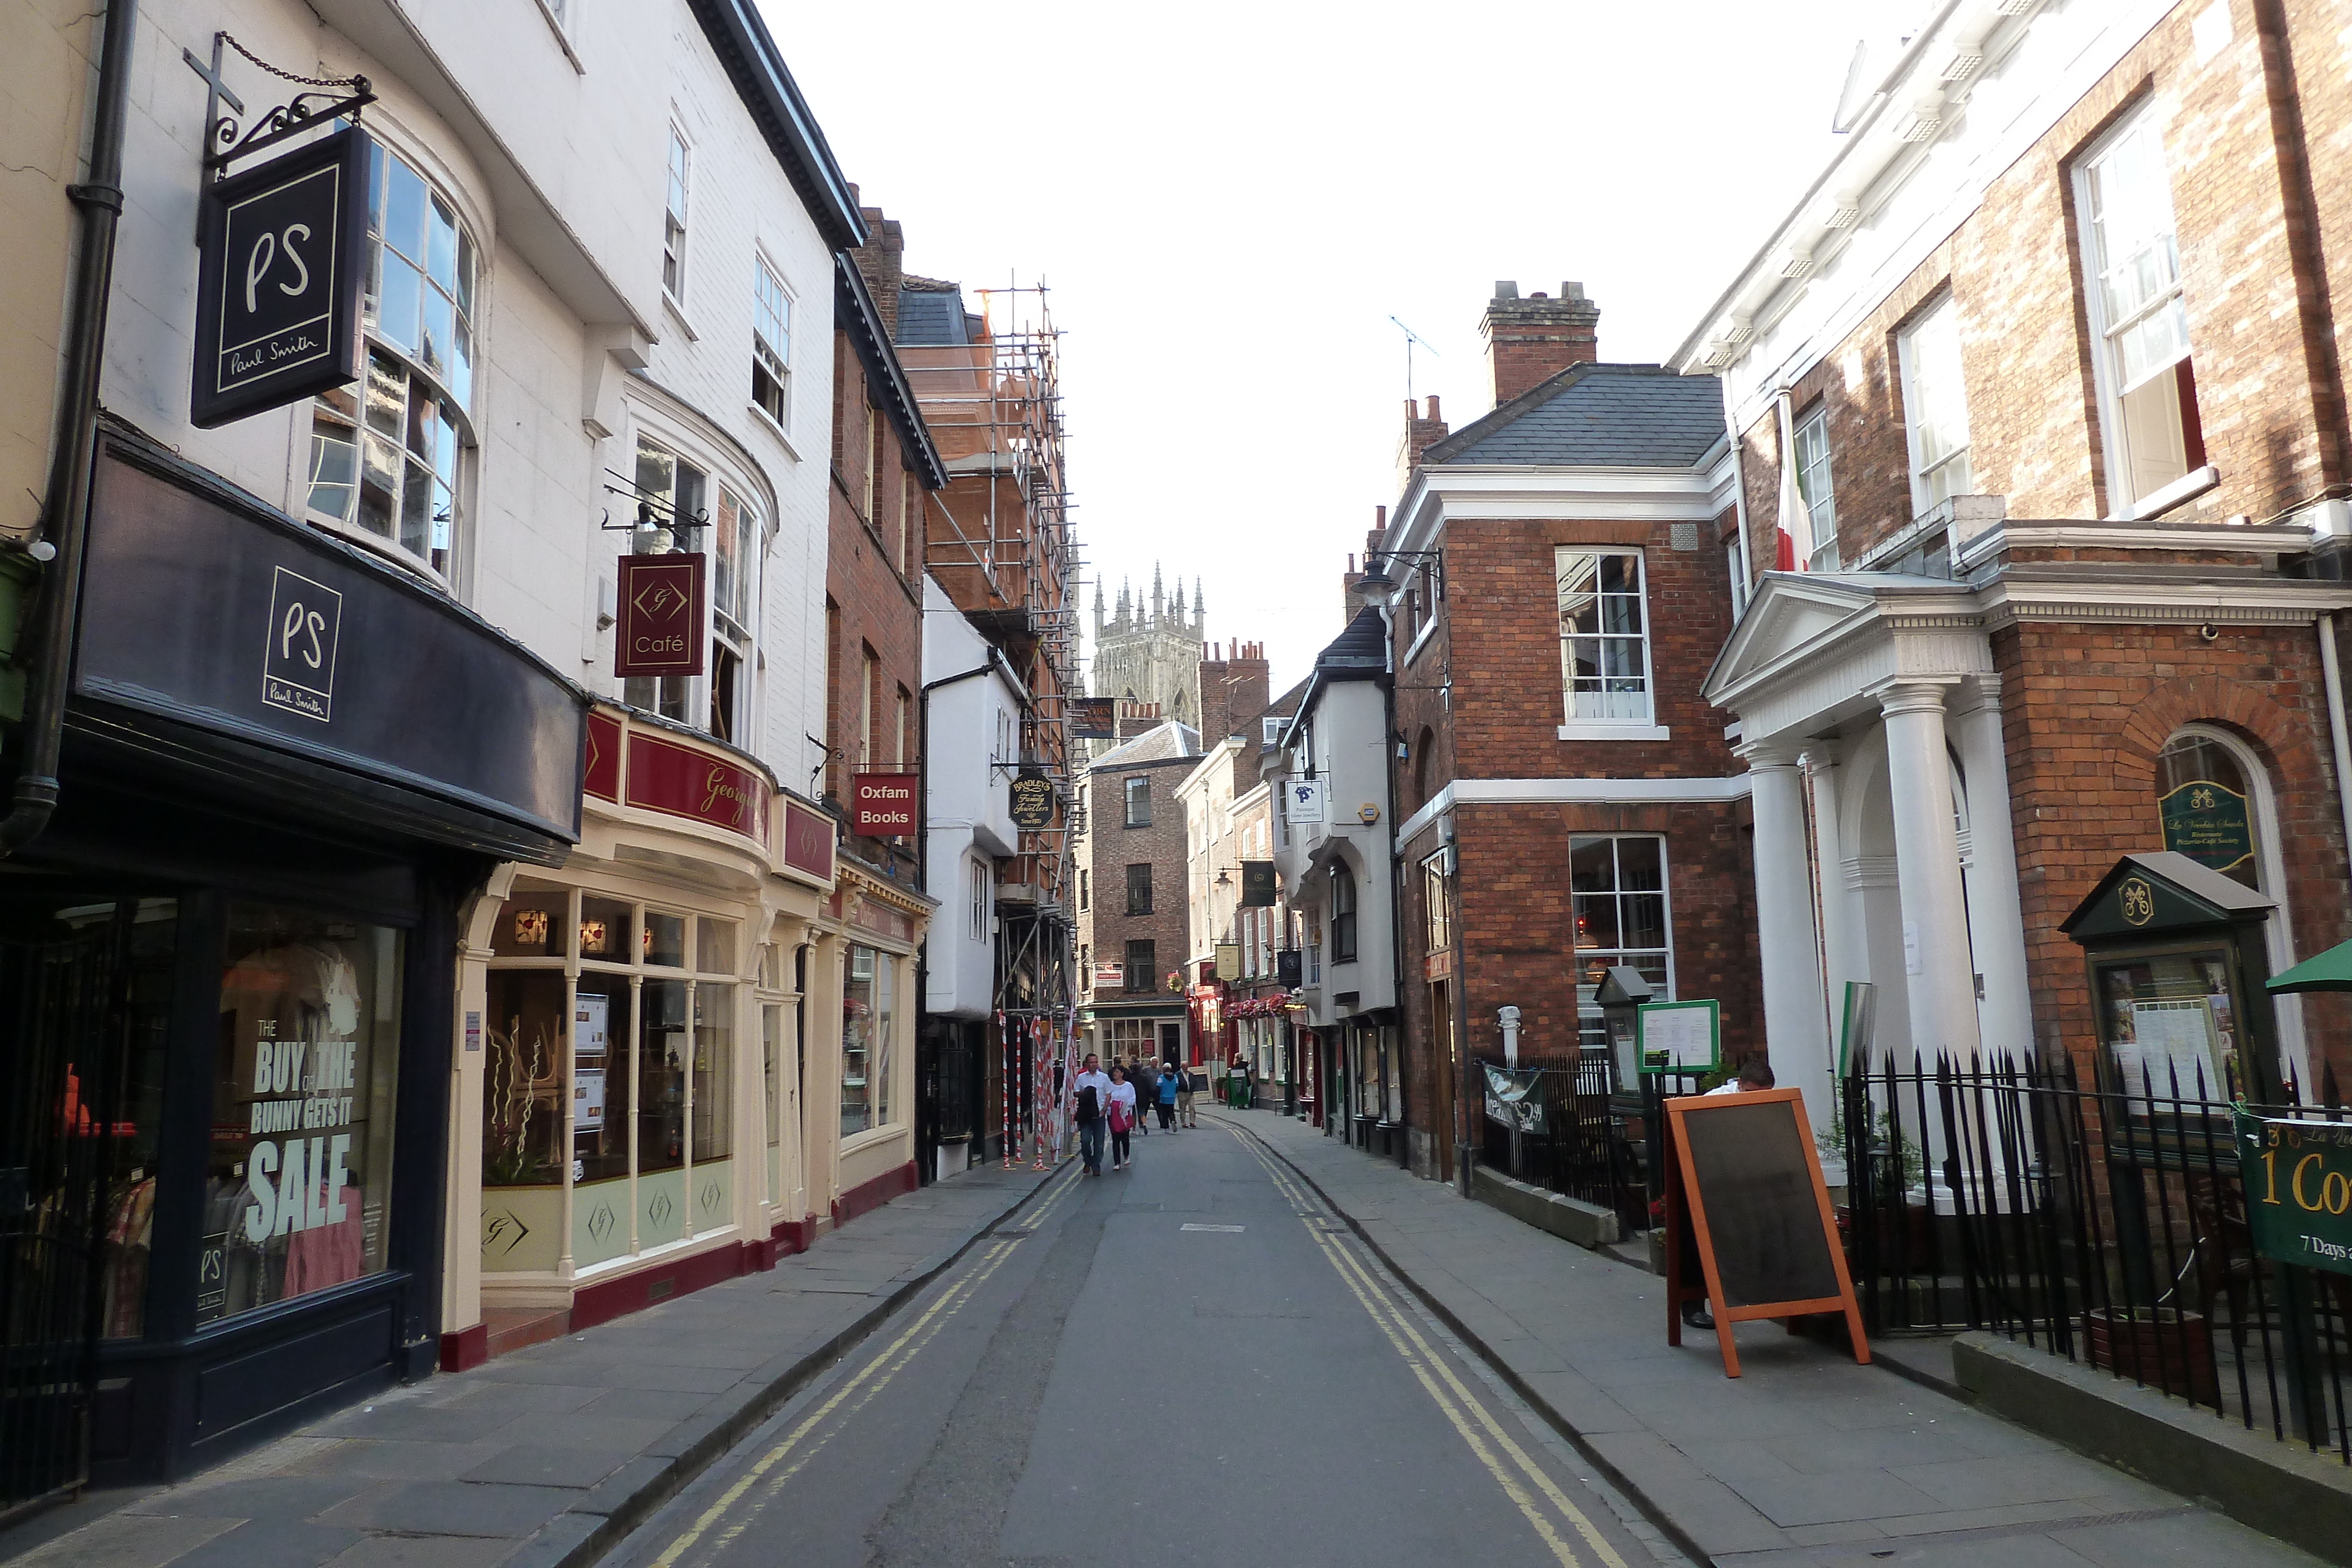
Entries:
{"label": "third white portico column from the left", "polygon": [[1896,879],[1903,898],[1903,969],[1912,1048],[1926,1065],[1947,1053],[1978,1056],[1976,969],[1969,961],[1969,900],[1959,882],[1952,823],[1952,757],[1943,736],[1943,686],[1889,682],[1872,691],[1886,715],[1886,783],[1896,818]]}

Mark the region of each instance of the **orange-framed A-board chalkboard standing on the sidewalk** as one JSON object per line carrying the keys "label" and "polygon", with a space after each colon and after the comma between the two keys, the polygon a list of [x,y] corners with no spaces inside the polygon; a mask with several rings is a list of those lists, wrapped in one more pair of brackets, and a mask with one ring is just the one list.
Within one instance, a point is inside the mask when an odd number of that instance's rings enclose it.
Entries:
{"label": "orange-framed A-board chalkboard standing on the sidewalk", "polygon": [[[1665,1342],[1705,1298],[1724,1375],[1740,1375],[1733,1324],[1844,1312],[1853,1359],[1870,1359],[1853,1276],[1837,1246],[1813,1126],[1795,1088],[1665,1103]],[[1689,1279],[1696,1260],[1700,1281]]]}

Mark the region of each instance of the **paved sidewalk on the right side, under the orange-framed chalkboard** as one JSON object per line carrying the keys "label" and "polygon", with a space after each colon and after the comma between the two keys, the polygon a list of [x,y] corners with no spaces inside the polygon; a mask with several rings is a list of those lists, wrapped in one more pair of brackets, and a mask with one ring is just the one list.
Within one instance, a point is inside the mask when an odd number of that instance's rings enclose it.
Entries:
{"label": "paved sidewalk on the right side, under the orange-framed chalkboard", "polygon": [[1665,1342],[1665,1281],[1268,1112],[1258,1135],[1446,1324],[1719,1568],[2312,1568],[2317,1559],[1886,1368],[1738,1331]]}

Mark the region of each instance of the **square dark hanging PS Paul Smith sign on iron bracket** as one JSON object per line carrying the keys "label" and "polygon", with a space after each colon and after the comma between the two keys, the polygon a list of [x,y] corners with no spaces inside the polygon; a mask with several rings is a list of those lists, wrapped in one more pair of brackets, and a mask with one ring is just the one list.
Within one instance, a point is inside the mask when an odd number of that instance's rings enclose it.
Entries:
{"label": "square dark hanging PS Paul Smith sign on iron bracket", "polygon": [[205,186],[188,421],[226,425],[360,378],[367,132]]}

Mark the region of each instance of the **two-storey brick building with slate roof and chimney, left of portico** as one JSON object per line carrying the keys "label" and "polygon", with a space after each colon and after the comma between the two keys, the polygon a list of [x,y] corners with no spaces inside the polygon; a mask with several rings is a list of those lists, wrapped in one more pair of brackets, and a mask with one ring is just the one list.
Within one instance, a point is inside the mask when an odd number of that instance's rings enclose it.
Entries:
{"label": "two-storey brick building with slate roof and chimney, left of portico", "polygon": [[1731,630],[1722,393],[1597,362],[1597,320],[1578,284],[1496,284],[1496,409],[1411,411],[1355,583],[1392,637],[1404,1119],[1432,1175],[1505,1006],[1522,1063],[1573,1063],[1630,964],[1717,999],[1726,1051],[1759,1044],[1748,780],[1700,693]]}

